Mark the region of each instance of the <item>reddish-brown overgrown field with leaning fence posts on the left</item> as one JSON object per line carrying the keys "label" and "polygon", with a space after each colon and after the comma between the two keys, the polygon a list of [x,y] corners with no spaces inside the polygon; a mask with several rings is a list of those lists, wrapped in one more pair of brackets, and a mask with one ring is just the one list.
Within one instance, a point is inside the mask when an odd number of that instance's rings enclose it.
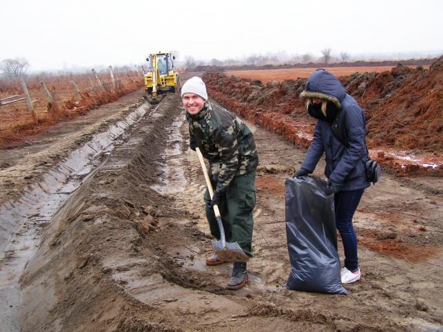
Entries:
{"label": "reddish-brown overgrown field with leaning fence posts on the left", "polygon": [[[88,76],[93,80],[94,88],[91,87]],[[107,90],[100,89],[93,75],[36,75],[26,79],[26,85],[30,99],[33,102],[38,121],[35,122],[30,113],[26,100],[0,106],[0,149],[14,147],[26,143],[26,140],[35,133],[48,129],[53,124],[75,118],[95,109],[101,104],[107,104],[143,86],[143,78],[135,72],[120,72],[115,75],[120,80],[121,86],[113,88],[109,73],[99,73],[100,78]],[[48,102],[40,82],[44,81],[46,87],[57,105]],[[71,81],[77,84],[81,91],[75,91]],[[10,95],[24,97],[24,91],[19,82],[0,84],[0,99]],[[12,100],[15,98],[12,98]]]}

